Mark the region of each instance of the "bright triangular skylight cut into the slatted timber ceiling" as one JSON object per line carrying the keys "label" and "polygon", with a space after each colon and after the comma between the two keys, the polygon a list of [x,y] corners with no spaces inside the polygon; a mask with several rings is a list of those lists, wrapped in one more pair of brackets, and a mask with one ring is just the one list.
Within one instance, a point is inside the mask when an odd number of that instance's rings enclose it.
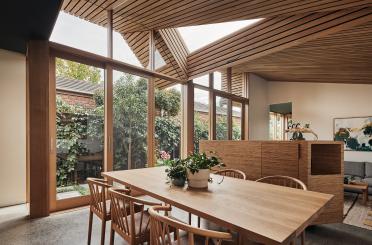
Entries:
{"label": "bright triangular skylight cut into the slatted timber ceiling", "polygon": [[177,28],[190,52],[202,48],[261,19]]}

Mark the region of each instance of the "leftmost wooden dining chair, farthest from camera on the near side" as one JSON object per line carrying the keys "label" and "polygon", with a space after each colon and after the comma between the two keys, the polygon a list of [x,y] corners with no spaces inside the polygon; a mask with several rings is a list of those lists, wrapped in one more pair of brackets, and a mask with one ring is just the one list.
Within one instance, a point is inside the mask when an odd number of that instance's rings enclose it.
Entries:
{"label": "leftmost wooden dining chair, farthest from camera on the near side", "polygon": [[110,202],[107,201],[107,191],[111,187],[106,180],[87,178],[90,191],[88,245],[92,238],[93,214],[101,219],[101,245],[105,244],[106,222],[111,220]]}

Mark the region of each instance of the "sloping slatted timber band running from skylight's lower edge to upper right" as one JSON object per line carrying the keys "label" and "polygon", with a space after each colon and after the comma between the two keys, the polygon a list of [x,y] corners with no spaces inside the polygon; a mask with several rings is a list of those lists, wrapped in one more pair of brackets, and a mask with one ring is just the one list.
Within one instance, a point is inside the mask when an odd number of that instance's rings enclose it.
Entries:
{"label": "sloping slatted timber band running from skylight's lower edge to upper right", "polygon": [[197,77],[372,21],[372,8],[348,9],[262,20],[188,56]]}

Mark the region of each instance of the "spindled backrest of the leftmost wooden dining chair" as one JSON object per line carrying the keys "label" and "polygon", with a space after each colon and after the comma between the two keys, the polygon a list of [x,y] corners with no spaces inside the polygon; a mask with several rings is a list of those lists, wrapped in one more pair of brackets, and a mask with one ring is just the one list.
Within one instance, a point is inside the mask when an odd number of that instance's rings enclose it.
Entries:
{"label": "spindled backrest of the leftmost wooden dining chair", "polygon": [[90,191],[90,207],[97,215],[105,217],[108,214],[106,207],[107,190],[111,187],[106,180],[87,178]]}

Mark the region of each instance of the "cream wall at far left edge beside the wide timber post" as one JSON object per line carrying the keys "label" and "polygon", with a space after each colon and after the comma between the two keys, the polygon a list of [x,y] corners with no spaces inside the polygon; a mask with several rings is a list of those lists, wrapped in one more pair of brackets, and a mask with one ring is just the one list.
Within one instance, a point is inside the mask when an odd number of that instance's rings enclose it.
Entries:
{"label": "cream wall at far left edge beside the wide timber post", "polygon": [[26,202],[26,58],[0,49],[0,207]]}

